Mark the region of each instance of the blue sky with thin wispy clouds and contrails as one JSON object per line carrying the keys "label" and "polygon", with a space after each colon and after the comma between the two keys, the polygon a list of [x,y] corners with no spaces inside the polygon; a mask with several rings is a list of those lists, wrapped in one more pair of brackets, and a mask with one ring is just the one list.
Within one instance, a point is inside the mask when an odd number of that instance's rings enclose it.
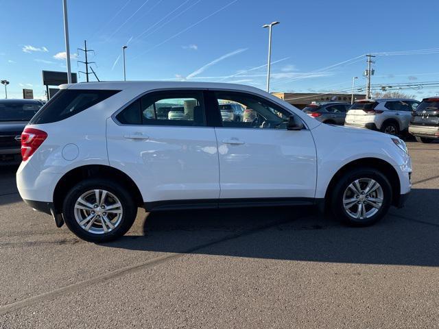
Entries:
{"label": "blue sky with thin wispy clouds and contrails", "polygon": [[[364,86],[368,52],[373,84],[439,81],[439,1],[69,0],[72,71],[76,49],[101,80],[221,81],[265,88],[268,29],[273,28],[272,90],[321,93]],[[62,0],[0,0],[0,78],[9,97],[33,88],[43,97],[43,69],[65,71]],[[369,10],[369,11],[368,11]],[[416,53],[394,51],[433,49]],[[119,60],[117,60],[119,58]],[[332,66],[346,61],[344,64]],[[84,81],[84,75],[79,80]],[[92,77],[92,80],[93,77]],[[418,98],[439,88],[404,90]],[[0,90],[3,97],[3,90]]]}

